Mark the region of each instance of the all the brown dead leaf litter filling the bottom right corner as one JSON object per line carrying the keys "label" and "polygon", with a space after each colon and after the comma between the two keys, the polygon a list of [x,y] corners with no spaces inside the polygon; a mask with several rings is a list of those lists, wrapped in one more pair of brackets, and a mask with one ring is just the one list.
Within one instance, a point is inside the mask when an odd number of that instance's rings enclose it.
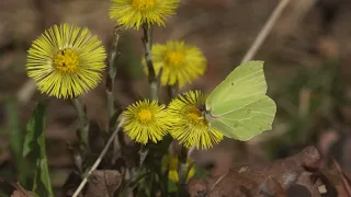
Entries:
{"label": "all the brown dead leaf litter filling the bottom right corner", "polygon": [[[349,196],[350,172],[333,162],[322,165],[310,146],[283,160],[230,169],[223,176],[192,179],[192,197],[333,197]],[[348,174],[349,177],[346,175]]]}

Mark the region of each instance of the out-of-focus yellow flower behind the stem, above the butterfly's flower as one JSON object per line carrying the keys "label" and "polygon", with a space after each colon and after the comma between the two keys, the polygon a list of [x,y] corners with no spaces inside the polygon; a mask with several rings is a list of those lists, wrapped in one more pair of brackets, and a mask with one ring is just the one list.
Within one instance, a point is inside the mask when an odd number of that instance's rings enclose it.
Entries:
{"label": "out-of-focus yellow flower behind the stem, above the butterfly's flower", "polygon": [[[154,45],[152,60],[156,74],[161,71],[162,85],[178,83],[182,88],[202,76],[206,69],[206,58],[202,51],[184,42],[170,40],[166,45]],[[146,63],[144,66],[147,72]]]}

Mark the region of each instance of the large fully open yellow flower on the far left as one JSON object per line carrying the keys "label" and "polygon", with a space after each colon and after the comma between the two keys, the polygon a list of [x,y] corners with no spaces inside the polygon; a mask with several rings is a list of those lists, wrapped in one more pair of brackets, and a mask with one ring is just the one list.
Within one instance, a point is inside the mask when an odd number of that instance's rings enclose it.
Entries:
{"label": "large fully open yellow flower on the far left", "polygon": [[26,70],[42,93],[76,97],[101,81],[105,49],[88,28],[54,25],[29,49]]}

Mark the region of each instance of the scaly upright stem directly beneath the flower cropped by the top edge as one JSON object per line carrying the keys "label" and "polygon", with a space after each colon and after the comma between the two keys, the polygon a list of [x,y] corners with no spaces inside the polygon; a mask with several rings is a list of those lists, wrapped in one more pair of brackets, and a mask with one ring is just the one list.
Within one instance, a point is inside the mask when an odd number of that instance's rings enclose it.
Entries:
{"label": "scaly upright stem directly beneath the flower cropped by the top edge", "polygon": [[145,59],[146,59],[146,66],[147,66],[149,83],[150,83],[150,99],[157,100],[158,82],[157,82],[157,77],[154,69],[152,53],[151,53],[152,51],[152,26],[148,24],[144,24],[143,30],[144,30],[143,43],[145,48]]}

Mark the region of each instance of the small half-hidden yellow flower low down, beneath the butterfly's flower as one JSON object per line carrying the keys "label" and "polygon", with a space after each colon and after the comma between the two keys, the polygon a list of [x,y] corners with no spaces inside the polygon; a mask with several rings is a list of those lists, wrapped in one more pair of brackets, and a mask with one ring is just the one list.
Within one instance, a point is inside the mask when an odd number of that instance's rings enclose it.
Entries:
{"label": "small half-hidden yellow flower low down, beneath the butterfly's flower", "polygon": [[[190,163],[191,163],[191,160],[188,158],[185,166],[189,167]],[[179,164],[178,155],[173,155],[173,157],[165,155],[162,158],[162,165],[168,165],[168,170],[169,170],[168,178],[174,183],[179,182],[178,164]],[[192,178],[194,175],[195,175],[195,167],[192,166],[188,173],[186,181]]]}

